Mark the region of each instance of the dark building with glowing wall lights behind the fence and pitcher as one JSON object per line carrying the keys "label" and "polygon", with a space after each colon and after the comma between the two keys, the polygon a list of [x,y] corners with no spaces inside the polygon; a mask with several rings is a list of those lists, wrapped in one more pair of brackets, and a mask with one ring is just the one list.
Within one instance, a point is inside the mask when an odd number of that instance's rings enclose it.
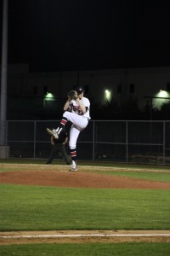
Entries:
{"label": "dark building with glowing wall lights behind the fence and pitcher", "polygon": [[59,118],[67,92],[77,84],[86,90],[92,111],[111,102],[113,112],[125,102],[136,101],[140,109],[146,102],[157,109],[170,102],[170,67],[31,73],[27,64],[16,64],[8,67],[7,118]]}

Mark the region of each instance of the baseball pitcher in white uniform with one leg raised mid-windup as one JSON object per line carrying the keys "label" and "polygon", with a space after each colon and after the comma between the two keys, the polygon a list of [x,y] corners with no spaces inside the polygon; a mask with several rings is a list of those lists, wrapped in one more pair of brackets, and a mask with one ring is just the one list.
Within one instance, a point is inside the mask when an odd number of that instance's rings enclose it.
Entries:
{"label": "baseball pitcher in white uniform with one leg raised mid-windup", "polygon": [[[72,99],[71,94],[74,95],[74,99]],[[87,127],[88,120],[90,119],[90,102],[83,94],[84,90],[82,87],[71,90],[68,93],[68,100],[65,102],[64,106],[65,113],[59,122],[58,128],[52,130],[47,128],[48,133],[55,139],[58,139],[60,131],[62,131],[67,122],[70,121],[72,123],[69,141],[72,160],[71,172],[77,171],[77,138],[80,131]]]}

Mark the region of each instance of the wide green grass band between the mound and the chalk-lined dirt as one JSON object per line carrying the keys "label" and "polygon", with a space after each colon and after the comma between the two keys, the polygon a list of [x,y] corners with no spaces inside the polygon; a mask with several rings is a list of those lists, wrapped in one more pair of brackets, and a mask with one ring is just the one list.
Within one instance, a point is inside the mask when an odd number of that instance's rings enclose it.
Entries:
{"label": "wide green grass band between the mound and the chalk-lined dirt", "polygon": [[169,230],[170,190],[0,187],[0,230]]}

